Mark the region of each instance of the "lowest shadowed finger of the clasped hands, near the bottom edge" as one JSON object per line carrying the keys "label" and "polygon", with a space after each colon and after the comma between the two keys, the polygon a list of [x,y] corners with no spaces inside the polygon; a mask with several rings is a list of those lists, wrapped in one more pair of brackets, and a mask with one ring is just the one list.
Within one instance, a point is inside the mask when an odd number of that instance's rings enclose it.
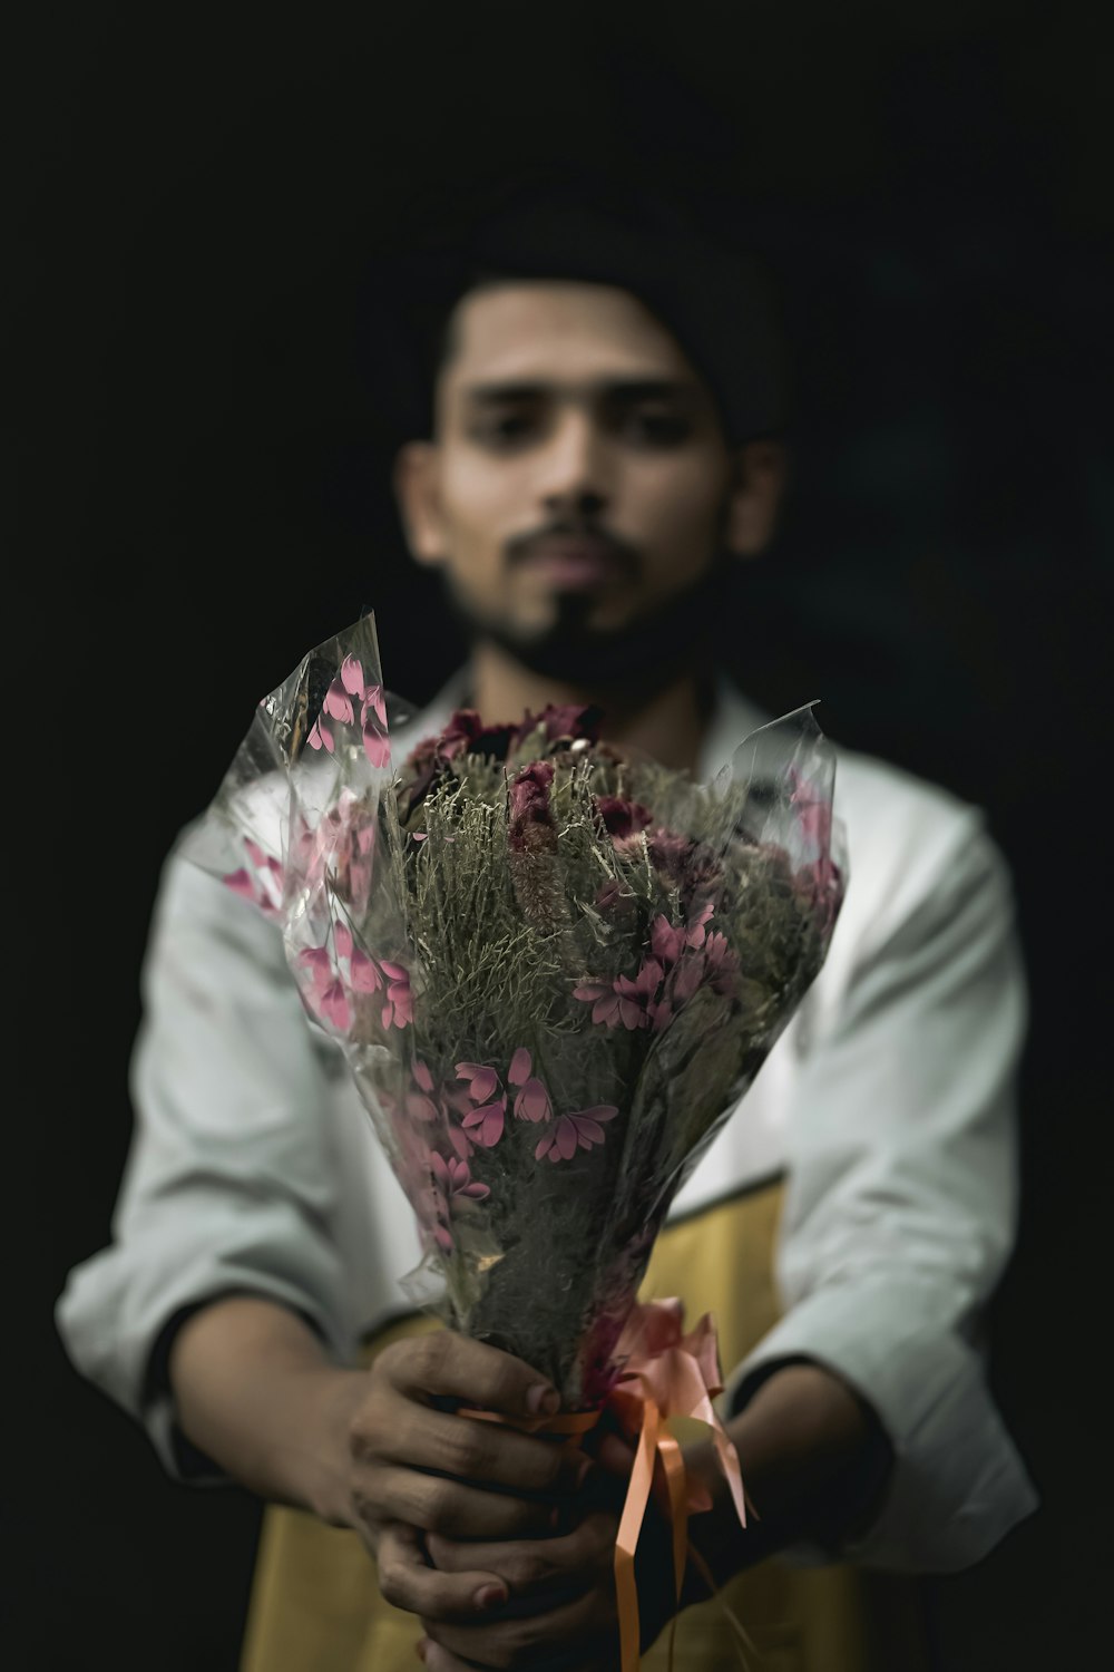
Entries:
{"label": "lowest shadowed finger of the clasped hands, near the bottom edge", "polygon": [[570,1665],[590,1664],[616,1640],[615,1593],[601,1587],[538,1613],[496,1617],[489,1624],[459,1625],[426,1620],[431,1637],[449,1654],[498,1672],[528,1667],[529,1672],[568,1655]]}

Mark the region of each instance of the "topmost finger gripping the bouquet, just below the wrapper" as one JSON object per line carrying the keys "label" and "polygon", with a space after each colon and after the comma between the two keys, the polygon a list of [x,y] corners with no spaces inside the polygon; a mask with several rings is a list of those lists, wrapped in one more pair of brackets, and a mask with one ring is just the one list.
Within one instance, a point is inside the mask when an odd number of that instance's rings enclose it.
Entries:
{"label": "topmost finger gripping the bouquet, just below the wrapper", "polygon": [[523,1359],[454,1329],[396,1341],[379,1354],[391,1386],[408,1398],[456,1398],[501,1416],[553,1416],[556,1388]]}

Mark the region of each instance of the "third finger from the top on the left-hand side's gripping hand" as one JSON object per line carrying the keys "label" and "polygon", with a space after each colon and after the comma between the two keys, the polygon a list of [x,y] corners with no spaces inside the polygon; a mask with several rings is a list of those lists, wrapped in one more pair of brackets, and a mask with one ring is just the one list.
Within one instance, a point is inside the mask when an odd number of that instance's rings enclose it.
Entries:
{"label": "third finger from the top on the left-hand side's gripping hand", "polygon": [[406,1522],[451,1538],[538,1538],[560,1520],[560,1510],[548,1503],[391,1465],[361,1471],[352,1508],[367,1527]]}

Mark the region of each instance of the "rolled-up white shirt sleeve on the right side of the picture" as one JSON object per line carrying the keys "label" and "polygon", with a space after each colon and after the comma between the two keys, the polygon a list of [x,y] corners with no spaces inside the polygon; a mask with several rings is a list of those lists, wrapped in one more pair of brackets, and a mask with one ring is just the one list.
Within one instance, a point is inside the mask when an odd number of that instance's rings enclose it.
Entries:
{"label": "rolled-up white shirt sleeve on the right side of the picture", "polygon": [[985,1378],[985,1304],[1019,1206],[1027,991],[1009,871],[975,809],[952,821],[917,900],[880,906],[818,1018],[790,1124],[787,1309],[732,1376],[728,1408],[778,1359],[827,1364],[873,1408],[894,1465],[865,1532],[797,1555],[965,1568],[1037,1506]]}

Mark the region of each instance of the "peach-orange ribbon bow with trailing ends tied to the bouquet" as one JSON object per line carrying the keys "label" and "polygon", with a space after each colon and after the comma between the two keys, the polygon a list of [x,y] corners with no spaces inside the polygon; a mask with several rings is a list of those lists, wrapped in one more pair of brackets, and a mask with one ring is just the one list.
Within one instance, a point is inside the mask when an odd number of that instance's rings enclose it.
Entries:
{"label": "peach-orange ribbon bow with trailing ends tied to the bouquet", "polygon": [[[671,1416],[693,1416],[708,1425],[740,1525],[747,1525],[738,1453],[711,1404],[713,1398],[723,1391],[715,1324],[711,1314],[705,1313],[696,1328],[685,1334],[683,1323],[685,1306],[676,1297],[638,1304],[616,1348],[616,1358],[623,1363],[623,1369],[608,1396],[608,1408],[615,1411],[628,1433],[638,1436],[635,1466],[615,1543],[621,1672],[638,1672],[640,1667],[635,1552],[653,1486],[655,1458],[661,1458],[670,1493],[673,1583],[678,1603],[688,1558],[688,1517],[711,1506],[706,1490],[686,1478],[680,1441],[670,1431]],[[670,1637],[671,1662],[673,1642]]]}

